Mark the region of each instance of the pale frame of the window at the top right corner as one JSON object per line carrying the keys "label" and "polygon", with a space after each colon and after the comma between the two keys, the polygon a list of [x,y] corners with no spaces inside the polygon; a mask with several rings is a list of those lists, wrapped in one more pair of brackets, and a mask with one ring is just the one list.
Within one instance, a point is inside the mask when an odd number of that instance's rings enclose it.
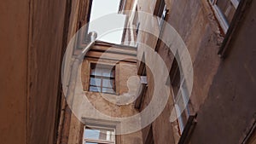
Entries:
{"label": "pale frame of the window at the top right corner", "polygon": [[[224,16],[224,12],[222,12],[219,8],[217,3],[217,0],[209,0],[209,2],[212,4],[212,8],[214,10],[214,14],[216,14],[216,17],[219,21],[220,26],[223,28],[224,33],[228,32],[229,29],[229,23],[228,21],[225,19]],[[233,6],[235,7],[235,9],[237,9],[238,5],[239,5],[239,0],[230,0],[230,2],[233,4]]]}

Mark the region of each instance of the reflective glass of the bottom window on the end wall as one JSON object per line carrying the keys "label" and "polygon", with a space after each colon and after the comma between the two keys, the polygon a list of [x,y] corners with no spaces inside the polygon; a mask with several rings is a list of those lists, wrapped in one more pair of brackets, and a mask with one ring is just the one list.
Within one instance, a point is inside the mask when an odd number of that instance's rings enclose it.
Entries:
{"label": "reflective glass of the bottom window on the end wall", "polygon": [[114,131],[103,128],[88,128],[84,132],[85,139],[114,141]]}

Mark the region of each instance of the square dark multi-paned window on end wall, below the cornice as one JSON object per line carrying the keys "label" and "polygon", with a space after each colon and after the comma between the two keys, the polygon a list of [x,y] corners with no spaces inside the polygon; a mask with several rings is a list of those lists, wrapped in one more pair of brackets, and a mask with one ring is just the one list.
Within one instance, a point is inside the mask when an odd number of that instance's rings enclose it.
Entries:
{"label": "square dark multi-paned window on end wall, below the cornice", "polygon": [[114,84],[115,66],[91,64],[90,65],[90,91],[115,94]]}

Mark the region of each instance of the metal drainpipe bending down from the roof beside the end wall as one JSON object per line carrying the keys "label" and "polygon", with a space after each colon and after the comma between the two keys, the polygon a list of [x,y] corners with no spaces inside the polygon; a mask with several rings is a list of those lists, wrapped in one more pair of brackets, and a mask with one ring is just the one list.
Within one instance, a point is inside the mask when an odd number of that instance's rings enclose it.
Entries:
{"label": "metal drainpipe bending down from the roof beside the end wall", "polygon": [[[90,50],[90,48],[95,44],[97,33],[96,32],[90,32],[89,35],[90,37],[90,43],[82,50],[81,54],[76,56],[73,60],[72,66],[70,66],[71,69],[71,76],[69,78],[69,86],[67,89],[67,99],[68,101],[72,101],[73,103],[73,96],[75,93],[75,85],[76,85],[76,80],[77,80],[77,74],[78,74],[78,69],[79,69],[79,64],[84,60],[84,55]],[[61,143],[61,137],[62,137],[62,130],[63,130],[63,125],[64,125],[64,117],[65,117],[65,107],[66,107],[67,102],[65,99],[62,99],[61,101],[61,116],[60,116],[60,123],[59,123],[59,128],[58,128],[58,138],[57,138],[57,144]],[[72,108],[73,106],[69,106]]]}

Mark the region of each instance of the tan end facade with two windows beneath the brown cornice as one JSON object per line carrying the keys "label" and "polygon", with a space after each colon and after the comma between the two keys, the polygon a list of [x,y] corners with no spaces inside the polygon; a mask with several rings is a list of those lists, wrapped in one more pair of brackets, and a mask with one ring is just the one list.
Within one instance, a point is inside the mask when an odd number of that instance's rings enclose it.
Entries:
{"label": "tan end facade with two windows beneath the brown cornice", "polygon": [[[124,118],[137,114],[133,99],[137,94],[137,50],[135,47],[96,41],[79,66],[76,82],[73,76],[68,80],[69,87],[74,84],[73,100],[67,95],[67,107],[63,116],[60,143],[143,143],[142,132],[117,135],[119,122],[99,118],[88,109],[71,112],[86,97],[97,111],[113,118]],[[69,65],[69,64],[68,64]],[[67,65],[67,66],[68,66]],[[70,67],[70,69],[72,69]],[[68,67],[67,67],[68,69]],[[71,70],[67,70],[71,71]],[[81,79],[79,83],[79,79]],[[70,83],[72,82],[72,83]],[[74,83],[73,83],[74,82]],[[79,85],[83,94],[79,95]],[[65,89],[64,89],[65,90]],[[73,106],[72,106],[73,105]],[[84,112],[84,113],[83,113]]]}

